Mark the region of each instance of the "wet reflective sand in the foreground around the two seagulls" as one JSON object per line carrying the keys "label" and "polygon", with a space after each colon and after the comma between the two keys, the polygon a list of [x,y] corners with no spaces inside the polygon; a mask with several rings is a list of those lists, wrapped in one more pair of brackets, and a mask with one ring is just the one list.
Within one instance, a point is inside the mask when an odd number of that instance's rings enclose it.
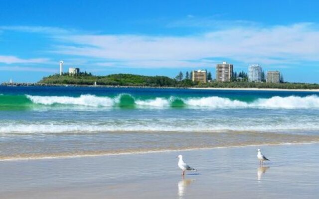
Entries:
{"label": "wet reflective sand in the foreground around the two seagulls", "polygon": [[[271,161],[259,167],[256,149]],[[176,155],[198,169],[182,178]],[[1,199],[317,199],[319,144],[0,162]]]}

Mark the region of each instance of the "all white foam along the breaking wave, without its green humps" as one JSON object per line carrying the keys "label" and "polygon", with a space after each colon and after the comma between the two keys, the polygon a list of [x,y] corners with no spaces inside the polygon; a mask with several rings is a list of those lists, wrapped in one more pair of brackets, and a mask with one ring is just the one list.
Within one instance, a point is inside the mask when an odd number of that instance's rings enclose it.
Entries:
{"label": "all white foam along the breaking wave, without its green humps", "polygon": [[[52,105],[52,104],[69,104],[69,105],[84,105],[84,106],[108,106],[112,107],[119,103],[121,97],[119,95],[114,98],[97,97],[94,95],[81,95],[80,97],[67,96],[30,96],[33,103]],[[131,96],[132,97],[132,96]],[[132,97],[133,98],[133,97]],[[150,108],[165,108],[170,107],[171,102],[175,97],[156,98],[149,100],[133,100],[138,107]],[[289,97],[272,97],[269,99],[258,99],[252,102],[231,100],[221,97],[202,97],[202,98],[178,98],[182,100],[186,107],[208,107],[208,108],[319,108],[318,96],[289,96]]]}

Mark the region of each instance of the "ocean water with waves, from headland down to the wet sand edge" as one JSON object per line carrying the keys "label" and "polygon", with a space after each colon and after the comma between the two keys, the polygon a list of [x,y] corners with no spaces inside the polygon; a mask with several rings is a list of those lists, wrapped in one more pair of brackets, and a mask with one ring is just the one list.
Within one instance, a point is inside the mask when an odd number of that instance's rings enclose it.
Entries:
{"label": "ocean water with waves, from headland down to the wet sand edge", "polygon": [[0,87],[0,160],[319,142],[316,92]]}

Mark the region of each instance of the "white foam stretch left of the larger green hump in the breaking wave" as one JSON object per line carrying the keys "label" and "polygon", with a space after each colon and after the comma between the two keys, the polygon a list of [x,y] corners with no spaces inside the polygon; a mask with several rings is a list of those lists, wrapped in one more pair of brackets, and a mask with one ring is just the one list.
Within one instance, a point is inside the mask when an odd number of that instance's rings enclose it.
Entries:
{"label": "white foam stretch left of the larger green hump in the breaking wave", "polygon": [[113,106],[115,100],[108,97],[97,97],[93,95],[81,95],[80,97],[67,96],[26,96],[33,103],[44,105],[59,104],[73,104],[85,106]]}

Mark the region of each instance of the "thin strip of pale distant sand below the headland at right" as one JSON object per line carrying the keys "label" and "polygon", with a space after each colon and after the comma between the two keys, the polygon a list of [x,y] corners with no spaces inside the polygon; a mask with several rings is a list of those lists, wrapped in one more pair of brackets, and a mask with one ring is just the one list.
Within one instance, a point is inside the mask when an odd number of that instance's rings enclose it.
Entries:
{"label": "thin strip of pale distant sand below the headland at right", "polygon": [[187,88],[194,90],[234,90],[234,91],[291,91],[291,92],[319,92],[319,89],[258,89],[258,88]]}

